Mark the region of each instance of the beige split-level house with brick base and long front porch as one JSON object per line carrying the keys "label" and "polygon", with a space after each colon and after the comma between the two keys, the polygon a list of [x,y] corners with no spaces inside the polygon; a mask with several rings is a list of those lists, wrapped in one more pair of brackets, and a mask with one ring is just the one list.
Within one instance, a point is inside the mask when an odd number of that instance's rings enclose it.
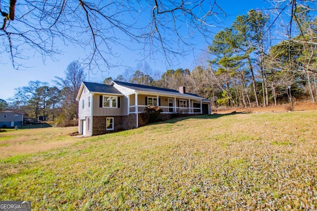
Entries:
{"label": "beige split-level house with brick base and long front porch", "polygon": [[86,136],[113,130],[127,130],[145,125],[142,117],[148,106],[159,106],[163,119],[175,113],[211,114],[211,101],[195,94],[120,81],[110,85],[82,82],[79,102],[78,131]]}

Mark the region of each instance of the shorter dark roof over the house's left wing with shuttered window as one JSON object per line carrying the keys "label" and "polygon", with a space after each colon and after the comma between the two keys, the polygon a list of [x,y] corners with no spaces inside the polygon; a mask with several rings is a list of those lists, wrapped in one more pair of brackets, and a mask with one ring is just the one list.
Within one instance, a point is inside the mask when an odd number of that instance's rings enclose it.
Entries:
{"label": "shorter dark roof over the house's left wing with shuttered window", "polygon": [[92,83],[83,81],[80,85],[76,100],[79,101],[81,93],[83,92],[84,87],[88,89],[91,93],[102,93],[102,94],[111,94],[111,95],[122,95],[116,88],[106,84]]}

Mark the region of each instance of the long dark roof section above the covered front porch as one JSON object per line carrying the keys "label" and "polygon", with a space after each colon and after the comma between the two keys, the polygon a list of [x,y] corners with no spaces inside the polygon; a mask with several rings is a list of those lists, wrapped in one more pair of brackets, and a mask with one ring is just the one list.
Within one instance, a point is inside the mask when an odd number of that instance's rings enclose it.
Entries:
{"label": "long dark roof section above the covered front porch", "polygon": [[173,89],[165,89],[165,88],[152,87],[152,86],[146,86],[146,85],[140,85],[140,84],[131,84],[131,83],[121,82],[121,81],[112,81],[110,84],[112,85],[113,83],[122,87],[129,88],[137,92],[146,92],[146,93],[153,93],[158,95],[170,95],[170,96],[175,96],[179,98],[191,98],[191,99],[196,98],[200,100],[204,99],[203,97],[200,97],[198,95],[189,94],[189,93],[183,94]]}

